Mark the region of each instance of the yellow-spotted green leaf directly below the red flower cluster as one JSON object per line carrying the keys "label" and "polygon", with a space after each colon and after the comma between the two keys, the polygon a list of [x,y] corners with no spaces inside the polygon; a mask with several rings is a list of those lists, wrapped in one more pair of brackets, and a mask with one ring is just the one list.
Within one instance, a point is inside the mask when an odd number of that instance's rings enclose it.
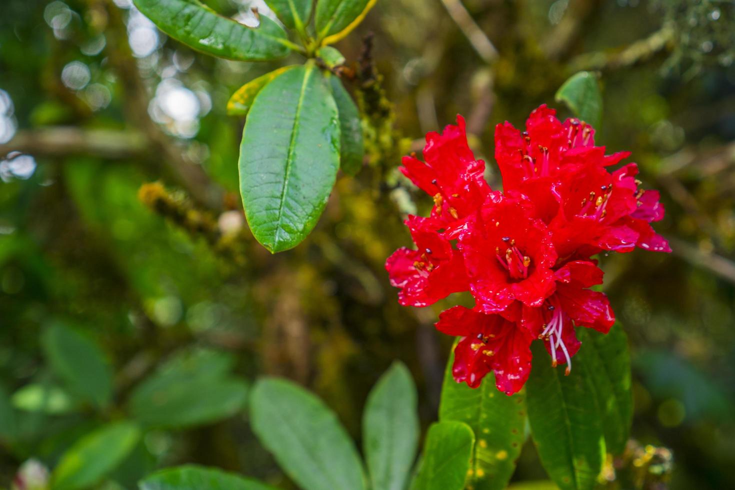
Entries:
{"label": "yellow-spotted green leaf directly below the red flower cluster", "polygon": [[453,361],[452,349],[442,385],[439,419],[465,422],[475,433],[468,478],[473,488],[504,489],[525,440],[526,394],[521,391],[509,397],[498,391],[492,372],[477,389],[457,383],[452,376]]}

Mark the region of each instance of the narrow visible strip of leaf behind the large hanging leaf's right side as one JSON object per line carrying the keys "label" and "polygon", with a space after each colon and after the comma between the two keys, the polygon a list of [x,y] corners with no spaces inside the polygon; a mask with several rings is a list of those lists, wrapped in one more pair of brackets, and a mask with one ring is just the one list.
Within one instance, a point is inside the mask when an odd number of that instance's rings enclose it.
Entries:
{"label": "narrow visible strip of leaf behind the large hanging leaf's right side", "polygon": [[329,76],[329,84],[340,116],[340,168],[344,173],[355,176],[362,168],[365,156],[360,112],[340,79]]}

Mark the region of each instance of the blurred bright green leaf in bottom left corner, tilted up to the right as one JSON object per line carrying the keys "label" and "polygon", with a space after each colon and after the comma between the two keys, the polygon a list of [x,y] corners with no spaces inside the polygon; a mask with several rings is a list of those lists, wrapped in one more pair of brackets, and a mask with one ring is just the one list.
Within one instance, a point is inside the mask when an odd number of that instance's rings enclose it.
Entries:
{"label": "blurred bright green leaf in bottom left corner, tilted up to the right", "polygon": [[82,437],[54,468],[54,490],[85,489],[99,483],[121,464],[139,439],[140,429],[131,422],[115,422]]}

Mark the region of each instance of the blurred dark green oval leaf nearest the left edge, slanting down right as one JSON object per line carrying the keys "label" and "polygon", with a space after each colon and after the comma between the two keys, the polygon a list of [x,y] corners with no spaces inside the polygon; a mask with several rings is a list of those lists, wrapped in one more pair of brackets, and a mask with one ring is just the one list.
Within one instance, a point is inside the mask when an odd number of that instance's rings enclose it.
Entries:
{"label": "blurred dark green oval leaf nearest the left edge, slanting down right", "polygon": [[41,343],[51,368],[69,391],[98,407],[110,401],[112,370],[94,342],[56,323],[43,333]]}

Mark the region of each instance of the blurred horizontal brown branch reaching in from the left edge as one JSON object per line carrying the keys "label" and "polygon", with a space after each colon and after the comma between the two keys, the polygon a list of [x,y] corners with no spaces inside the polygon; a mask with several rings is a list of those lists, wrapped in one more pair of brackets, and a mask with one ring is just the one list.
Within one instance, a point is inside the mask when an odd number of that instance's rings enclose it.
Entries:
{"label": "blurred horizontal brown branch reaching in from the left edge", "polygon": [[0,145],[0,157],[12,151],[34,156],[90,155],[108,159],[139,157],[148,149],[143,134],[115,129],[79,129],[57,126],[18,131]]}

